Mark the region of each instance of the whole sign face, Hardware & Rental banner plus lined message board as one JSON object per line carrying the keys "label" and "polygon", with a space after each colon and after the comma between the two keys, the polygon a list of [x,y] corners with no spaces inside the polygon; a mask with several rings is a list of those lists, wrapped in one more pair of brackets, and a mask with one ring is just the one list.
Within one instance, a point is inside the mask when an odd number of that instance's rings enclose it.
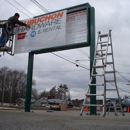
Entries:
{"label": "whole sign face, Hardware & Rental banner plus lined message board", "polygon": [[24,20],[31,28],[18,27],[14,53],[28,53],[40,49],[47,49],[46,52],[49,52],[54,50],[48,48],[65,50],[74,46],[86,46],[87,21],[86,5]]}

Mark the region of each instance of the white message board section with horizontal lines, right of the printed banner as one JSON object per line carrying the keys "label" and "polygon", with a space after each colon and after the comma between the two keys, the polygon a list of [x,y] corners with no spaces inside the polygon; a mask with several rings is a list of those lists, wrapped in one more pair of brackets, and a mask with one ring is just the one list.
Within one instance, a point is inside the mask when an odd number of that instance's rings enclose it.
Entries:
{"label": "white message board section with horizontal lines, right of the printed banner", "polygon": [[87,42],[86,10],[67,14],[66,44]]}

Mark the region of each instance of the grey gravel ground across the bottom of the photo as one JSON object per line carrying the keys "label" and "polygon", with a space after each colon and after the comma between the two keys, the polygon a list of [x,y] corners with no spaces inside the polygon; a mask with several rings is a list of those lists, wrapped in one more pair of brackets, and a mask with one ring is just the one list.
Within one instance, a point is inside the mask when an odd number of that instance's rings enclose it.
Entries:
{"label": "grey gravel ground across the bottom of the photo", "polygon": [[130,130],[130,113],[79,116],[79,111],[0,110],[0,130]]}

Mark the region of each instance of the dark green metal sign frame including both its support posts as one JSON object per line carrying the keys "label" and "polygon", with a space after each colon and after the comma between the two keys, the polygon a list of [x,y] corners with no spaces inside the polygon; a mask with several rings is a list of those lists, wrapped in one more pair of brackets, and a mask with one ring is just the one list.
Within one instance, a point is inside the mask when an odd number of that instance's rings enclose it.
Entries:
{"label": "dark green metal sign frame including both its support posts", "polygon": [[[75,12],[77,10],[86,9],[87,10],[87,42],[77,43],[72,45],[65,45],[65,46],[57,46],[51,47],[46,49],[39,49],[33,50],[28,55],[28,71],[27,71],[27,86],[26,86],[26,101],[25,101],[25,112],[30,112],[31,108],[31,90],[32,90],[32,76],[33,76],[33,61],[34,61],[34,54],[41,54],[47,52],[54,52],[54,51],[61,51],[61,50],[68,50],[80,47],[88,47],[90,46],[90,75],[92,72],[93,60],[94,60],[94,53],[95,53],[95,9],[91,7],[89,3],[73,6],[67,8],[68,13]],[[65,9],[63,9],[65,10]],[[96,74],[96,69],[94,69],[94,74]],[[96,84],[96,79],[93,78],[92,84]],[[96,85],[90,88],[91,94],[96,94]],[[90,103],[96,104],[96,96],[90,97]],[[96,107],[90,106],[90,115],[97,115]]]}

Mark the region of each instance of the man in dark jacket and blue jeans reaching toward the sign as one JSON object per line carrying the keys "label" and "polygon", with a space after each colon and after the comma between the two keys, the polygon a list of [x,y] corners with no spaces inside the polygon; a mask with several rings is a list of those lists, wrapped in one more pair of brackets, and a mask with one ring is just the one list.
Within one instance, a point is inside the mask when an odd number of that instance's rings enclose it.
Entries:
{"label": "man in dark jacket and blue jeans reaching toward the sign", "polygon": [[[19,17],[20,17],[20,15],[18,13],[15,13],[14,16],[12,16],[8,19],[8,25],[7,25],[7,23],[0,25],[0,27],[2,28],[2,34],[0,37],[0,47],[4,47],[5,44],[8,42],[8,35],[14,35],[12,30],[16,27],[17,24],[30,28],[29,25],[19,21],[18,20]],[[6,27],[6,26],[8,26],[8,27]],[[7,31],[7,29],[8,29],[8,31]],[[10,33],[8,34],[8,32],[10,32]]]}

